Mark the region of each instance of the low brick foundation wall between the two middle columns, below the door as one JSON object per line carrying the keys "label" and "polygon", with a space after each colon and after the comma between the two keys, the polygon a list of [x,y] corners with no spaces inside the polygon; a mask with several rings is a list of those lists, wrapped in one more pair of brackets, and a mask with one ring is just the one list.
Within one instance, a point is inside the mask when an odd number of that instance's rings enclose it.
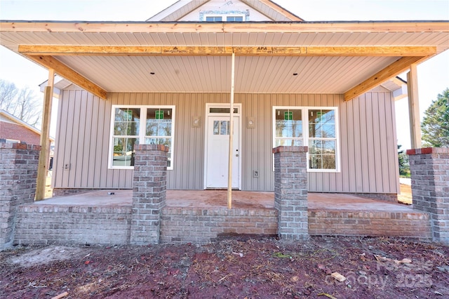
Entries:
{"label": "low brick foundation wall between the two middle columns, below the door", "polygon": [[161,242],[207,243],[232,234],[276,235],[274,209],[165,207],[161,216]]}

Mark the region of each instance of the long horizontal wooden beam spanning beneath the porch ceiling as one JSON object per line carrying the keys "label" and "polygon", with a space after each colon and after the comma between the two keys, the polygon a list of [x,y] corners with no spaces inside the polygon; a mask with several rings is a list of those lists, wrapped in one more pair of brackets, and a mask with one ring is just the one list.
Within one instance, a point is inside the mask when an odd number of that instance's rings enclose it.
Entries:
{"label": "long horizontal wooden beam spanning beneath the porch ceiling", "polygon": [[434,46],[31,46],[24,55],[278,55],[278,56],[428,56]]}

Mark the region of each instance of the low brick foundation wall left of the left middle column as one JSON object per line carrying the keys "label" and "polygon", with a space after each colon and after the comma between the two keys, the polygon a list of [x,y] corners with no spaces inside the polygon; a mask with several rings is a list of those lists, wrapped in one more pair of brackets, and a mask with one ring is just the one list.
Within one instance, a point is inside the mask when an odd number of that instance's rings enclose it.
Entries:
{"label": "low brick foundation wall left of the left middle column", "polygon": [[15,244],[128,244],[131,208],[23,205]]}

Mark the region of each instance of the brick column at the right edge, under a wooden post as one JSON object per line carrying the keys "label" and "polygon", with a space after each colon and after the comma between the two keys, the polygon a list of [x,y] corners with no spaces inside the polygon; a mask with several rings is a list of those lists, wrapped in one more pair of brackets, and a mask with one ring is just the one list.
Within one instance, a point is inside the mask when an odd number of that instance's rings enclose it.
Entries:
{"label": "brick column at the right edge, under a wooden post", "polygon": [[432,239],[449,244],[449,148],[407,150],[413,208],[429,212]]}

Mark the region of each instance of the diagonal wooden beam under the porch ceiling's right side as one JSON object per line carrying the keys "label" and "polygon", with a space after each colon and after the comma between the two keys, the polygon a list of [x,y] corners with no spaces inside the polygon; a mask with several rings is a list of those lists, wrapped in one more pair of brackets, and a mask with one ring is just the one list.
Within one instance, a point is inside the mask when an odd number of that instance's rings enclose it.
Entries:
{"label": "diagonal wooden beam under the porch ceiling's right side", "polygon": [[366,79],[361,84],[358,84],[354,88],[349,89],[349,91],[344,93],[344,100],[352,100],[353,98],[358,97],[358,95],[366,93],[367,91],[370,91],[370,89],[375,88],[375,86],[384,83],[391,77],[395,77],[398,74],[401,74],[401,72],[405,72],[406,69],[408,69],[413,63],[419,63],[426,59],[427,57],[419,56],[400,58],[391,63],[391,65],[389,65],[388,67],[382,69],[380,72],[377,72],[370,78]]}

